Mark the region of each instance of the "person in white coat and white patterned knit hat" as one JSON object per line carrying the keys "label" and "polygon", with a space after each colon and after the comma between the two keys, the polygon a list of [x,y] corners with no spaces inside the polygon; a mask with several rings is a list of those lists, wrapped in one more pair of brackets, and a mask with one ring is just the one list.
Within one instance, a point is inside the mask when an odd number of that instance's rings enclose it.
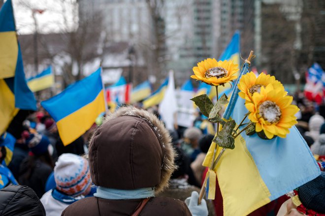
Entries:
{"label": "person in white coat and white patterned knit hat", "polygon": [[47,191],[40,201],[47,216],[59,216],[65,208],[85,198],[91,190],[88,161],[75,154],[62,154],[54,167],[56,188]]}

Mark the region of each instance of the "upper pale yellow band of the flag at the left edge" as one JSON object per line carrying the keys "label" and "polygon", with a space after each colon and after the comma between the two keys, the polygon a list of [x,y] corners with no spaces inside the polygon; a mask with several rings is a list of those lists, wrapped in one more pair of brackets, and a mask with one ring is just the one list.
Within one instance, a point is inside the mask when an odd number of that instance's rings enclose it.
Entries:
{"label": "upper pale yellow band of the flag at the left edge", "polygon": [[15,76],[18,43],[15,31],[0,32],[0,79]]}

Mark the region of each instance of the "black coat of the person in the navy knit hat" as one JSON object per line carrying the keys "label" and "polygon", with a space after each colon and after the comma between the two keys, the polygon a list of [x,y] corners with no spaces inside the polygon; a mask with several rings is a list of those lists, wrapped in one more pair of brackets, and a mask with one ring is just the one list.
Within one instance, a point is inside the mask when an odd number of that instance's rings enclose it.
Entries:
{"label": "black coat of the person in the navy knit hat", "polygon": [[27,185],[31,187],[37,196],[41,198],[45,193],[45,185],[48,177],[52,173],[53,169],[48,164],[36,159],[34,161],[34,168],[32,170],[31,176],[26,179],[26,170],[28,168],[28,157],[23,161],[20,166],[20,176],[18,178],[18,183],[21,185]]}

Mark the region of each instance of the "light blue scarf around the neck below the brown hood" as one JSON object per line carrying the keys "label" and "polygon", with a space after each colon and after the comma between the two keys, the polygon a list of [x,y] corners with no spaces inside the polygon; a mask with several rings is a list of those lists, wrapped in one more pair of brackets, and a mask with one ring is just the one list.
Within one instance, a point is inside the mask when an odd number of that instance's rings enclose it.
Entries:
{"label": "light blue scarf around the neck below the brown hood", "polygon": [[95,197],[111,200],[126,200],[126,199],[144,199],[155,196],[154,187],[144,187],[134,190],[121,190],[98,186]]}

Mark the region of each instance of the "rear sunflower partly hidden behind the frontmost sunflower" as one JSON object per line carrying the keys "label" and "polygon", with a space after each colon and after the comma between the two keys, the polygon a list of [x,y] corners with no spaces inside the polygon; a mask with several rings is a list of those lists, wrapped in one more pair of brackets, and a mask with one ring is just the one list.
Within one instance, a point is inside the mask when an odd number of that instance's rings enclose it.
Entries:
{"label": "rear sunflower partly hidden behind the frontmost sunflower", "polygon": [[252,96],[254,93],[260,93],[261,87],[266,87],[268,84],[271,84],[274,89],[281,89],[284,91],[283,85],[275,79],[274,76],[266,75],[265,73],[260,73],[258,77],[253,72],[243,75],[238,84],[238,89],[240,92],[238,95],[245,99],[248,102],[252,102]]}

